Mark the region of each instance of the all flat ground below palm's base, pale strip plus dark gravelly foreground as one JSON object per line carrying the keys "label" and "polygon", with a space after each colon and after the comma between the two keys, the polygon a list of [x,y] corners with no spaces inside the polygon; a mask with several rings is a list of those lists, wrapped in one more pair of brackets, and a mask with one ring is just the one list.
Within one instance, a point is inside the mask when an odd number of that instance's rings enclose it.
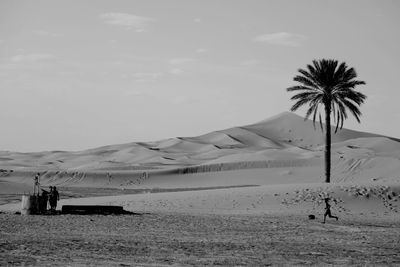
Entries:
{"label": "all flat ground below palm's base, pale strip plus dark gravelly foreground", "polygon": [[[1,205],[6,213],[0,214],[0,265],[400,265],[396,185],[290,184],[125,195],[119,189],[68,190],[70,196],[87,197],[63,199],[59,207],[122,205],[139,215],[22,216],[13,214],[20,203]],[[99,196],[113,192],[118,195]],[[322,224],[326,196],[339,220]]]}

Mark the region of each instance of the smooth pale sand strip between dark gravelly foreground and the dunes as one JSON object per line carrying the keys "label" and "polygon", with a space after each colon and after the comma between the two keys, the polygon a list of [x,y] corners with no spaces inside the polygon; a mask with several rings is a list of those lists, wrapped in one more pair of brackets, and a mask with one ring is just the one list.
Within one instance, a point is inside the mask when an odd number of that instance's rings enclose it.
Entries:
{"label": "smooth pale sand strip between dark gravelly foreground and the dunes", "polygon": [[[94,194],[93,188],[68,188],[68,198],[62,188],[59,190],[63,198],[59,208],[62,205],[119,205],[128,211],[151,213],[308,215],[323,214],[324,199],[329,197],[332,211],[342,217],[362,215],[370,219],[400,220],[400,186],[397,184],[281,184],[186,188],[158,193],[137,191],[136,194],[103,189],[97,193],[111,196],[92,197],[89,196]],[[126,193],[129,192],[134,190]],[[74,195],[85,197],[74,198]],[[17,212],[20,209],[20,200],[0,205],[0,211]]]}

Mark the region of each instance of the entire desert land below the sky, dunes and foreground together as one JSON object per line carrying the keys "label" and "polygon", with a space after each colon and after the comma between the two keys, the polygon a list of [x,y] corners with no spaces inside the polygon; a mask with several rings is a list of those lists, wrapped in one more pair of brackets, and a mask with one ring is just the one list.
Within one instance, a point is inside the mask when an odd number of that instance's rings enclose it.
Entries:
{"label": "entire desert land below the sky, dunes and foreground together", "polygon": [[[400,265],[400,140],[332,137],[331,184],[323,134],[288,112],[198,137],[0,152],[0,265]],[[36,172],[59,208],[136,214],[17,215]],[[339,220],[322,224],[326,197]]]}

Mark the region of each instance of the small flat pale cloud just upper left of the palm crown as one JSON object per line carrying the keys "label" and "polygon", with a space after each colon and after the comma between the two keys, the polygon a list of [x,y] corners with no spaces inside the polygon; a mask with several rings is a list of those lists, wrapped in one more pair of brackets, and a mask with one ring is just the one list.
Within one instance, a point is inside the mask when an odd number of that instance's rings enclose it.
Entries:
{"label": "small flat pale cloud just upper left of the palm crown", "polygon": [[253,39],[253,41],[271,45],[298,47],[302,46],[306,39],[307,38],[301,34],[277,32],[258,35]]}

